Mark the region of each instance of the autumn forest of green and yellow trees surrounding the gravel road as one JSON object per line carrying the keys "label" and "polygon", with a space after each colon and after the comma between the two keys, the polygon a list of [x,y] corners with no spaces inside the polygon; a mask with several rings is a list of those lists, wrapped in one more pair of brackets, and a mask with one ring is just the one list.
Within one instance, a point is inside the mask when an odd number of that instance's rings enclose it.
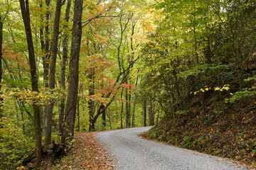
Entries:
{"label": "autumn forest of green and yellow trees surrounding the gravel road", "polygon": [[76,132],[153,125],[256,164],[255,3],[0,0],[0,169]]}

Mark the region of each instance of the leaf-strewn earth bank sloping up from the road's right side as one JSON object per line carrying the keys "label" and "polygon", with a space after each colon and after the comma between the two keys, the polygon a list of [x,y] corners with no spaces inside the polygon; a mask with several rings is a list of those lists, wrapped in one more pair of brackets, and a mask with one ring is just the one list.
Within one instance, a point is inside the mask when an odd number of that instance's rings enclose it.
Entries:
{"label": "leaf-strewn earth bank sloping up from the road's right side", "polygon": [[[197,96],[186,98],[188,111],[171,113],[147,132],[149,139],[170,145],[193,149],[206,154],[227,157],[256,165],[256,111],[252,106],[235,111],[227,108],[218,112],[218,106],[206,95],[203,114]],[[178,114],[177,114],[178,113]]]}

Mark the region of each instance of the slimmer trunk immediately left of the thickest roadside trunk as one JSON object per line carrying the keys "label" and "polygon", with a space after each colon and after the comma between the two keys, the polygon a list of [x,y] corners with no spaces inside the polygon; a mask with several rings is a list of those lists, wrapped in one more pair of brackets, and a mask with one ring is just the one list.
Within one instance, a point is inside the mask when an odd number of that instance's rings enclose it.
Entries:
{"label": "slimmer trunk immediately left of the thickest roadside trunk", "polygon": [[[66,24],[64,29],[68,29],[68,21],[70,18],[70,7],[71,7],[71,0],[68,0],[68,4],[65,10],[65,21]],[[65,91],[65,67],[68,60],[68,30],[65,30],[64,40],[63,40],[63,57],[60,64],[60,86],[61,89]],[[65,111],[65,98],[60,99],[60,106],[59,106],[59,118],[58,118],[58,125],[59,125],[59,134],[63,133],[63,120],[64,120],[64,111]]]}

